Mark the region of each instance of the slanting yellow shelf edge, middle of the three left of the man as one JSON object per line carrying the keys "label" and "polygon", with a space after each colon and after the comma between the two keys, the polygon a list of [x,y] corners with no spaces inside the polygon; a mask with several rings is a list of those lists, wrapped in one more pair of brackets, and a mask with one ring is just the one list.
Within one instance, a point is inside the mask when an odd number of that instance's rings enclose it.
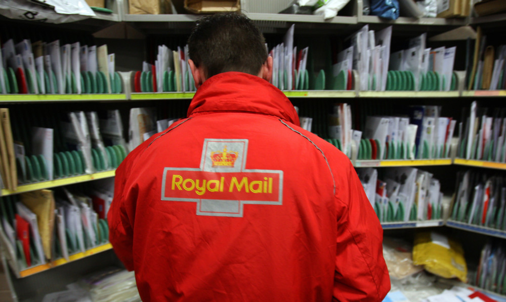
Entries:
{"label": "slanting yellow shelf edge, middle of the three left of the man", "polygon": [[20,186],[18,186],[17,190],[15,190],[15,191],[11,191],[8,189],[2,189],[2,196],[13,195],[13,194],[18,194],[18,193],[23,193],[23,192],[34,191],[34,190],[59,187],[59,186],[64,186],[64,185],[69,185],[69,184],[74,184],[74,183],[79,183],[79,182],[86,182],[86,181],[90,181],[90,180],[113,177],[115,172],[116,172],[116,170],[110,170],[110,171],[98,172],[98,173],[94,173],[94,174],[78,175],[78,176],[73,176],[73,177],[60,178],[60,179],[54,179],[54,180],[48,180],[48,181],[20,185]]}

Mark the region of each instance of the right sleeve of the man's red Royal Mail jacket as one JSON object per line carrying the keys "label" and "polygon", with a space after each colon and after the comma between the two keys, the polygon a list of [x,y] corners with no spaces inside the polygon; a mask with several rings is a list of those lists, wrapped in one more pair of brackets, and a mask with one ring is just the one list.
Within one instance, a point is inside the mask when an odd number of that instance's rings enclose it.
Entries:
{"label": "right sleeve of the man's red Royal Mail jacket", "polygon": [[[355,169],[348,164],[334,177],[338,236],[336,238],[333,301],[381,302],[390,290],[383,258],[383,229]],[[342,170],[341,170],[342,171]]]}

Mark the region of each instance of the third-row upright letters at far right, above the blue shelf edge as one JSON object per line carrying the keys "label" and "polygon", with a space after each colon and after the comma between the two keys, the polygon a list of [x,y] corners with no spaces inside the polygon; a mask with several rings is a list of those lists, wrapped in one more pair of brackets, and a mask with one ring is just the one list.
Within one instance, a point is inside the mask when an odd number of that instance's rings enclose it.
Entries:
{"label": "third-row upright letters at far right, above the blue shelf edge", "polygon": [[454,221],[506,230],[506,179],[483,171],[457,173]]}

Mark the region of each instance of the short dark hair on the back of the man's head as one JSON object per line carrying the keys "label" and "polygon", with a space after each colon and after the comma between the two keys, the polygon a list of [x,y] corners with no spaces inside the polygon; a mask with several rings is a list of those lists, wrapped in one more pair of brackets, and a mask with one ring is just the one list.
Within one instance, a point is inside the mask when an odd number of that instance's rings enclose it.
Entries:
{"label": "short dark hair on the back of the man's head", "polygon": [[239,71],[257,75],[267,60],[265,39],[251,19],[241,13],[218,13],[195,22],[188,55],[205,77]]}

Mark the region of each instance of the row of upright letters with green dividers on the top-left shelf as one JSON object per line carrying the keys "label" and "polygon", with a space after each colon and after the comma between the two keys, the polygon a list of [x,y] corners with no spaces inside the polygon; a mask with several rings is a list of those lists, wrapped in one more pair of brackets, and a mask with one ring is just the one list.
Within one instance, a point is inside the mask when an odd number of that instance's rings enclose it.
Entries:
{"label": "row of upright letters with green dividers on the top-left shelf", "polygon": [[0,93],[120,93],[122,86],[107,45],[10,39],[0,51]]}

